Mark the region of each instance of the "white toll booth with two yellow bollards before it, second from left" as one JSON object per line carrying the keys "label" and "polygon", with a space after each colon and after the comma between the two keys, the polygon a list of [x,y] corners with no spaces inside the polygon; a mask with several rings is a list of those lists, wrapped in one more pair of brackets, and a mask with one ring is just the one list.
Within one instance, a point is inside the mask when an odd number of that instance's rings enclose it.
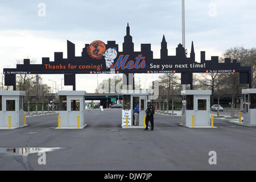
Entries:
{"label": "white toll booth with two yellow bollards before it, second from left", "polygon": [[83,129],[85,91],[59,91],[60,111],[56,129]]}

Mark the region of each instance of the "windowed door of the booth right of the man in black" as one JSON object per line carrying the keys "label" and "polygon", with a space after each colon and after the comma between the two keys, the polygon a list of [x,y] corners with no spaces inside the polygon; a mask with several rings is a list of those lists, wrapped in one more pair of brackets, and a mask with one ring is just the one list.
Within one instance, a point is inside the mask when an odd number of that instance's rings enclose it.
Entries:
{"label": "windowed door of the booth right of the man in black", "polygon": [[195,97],[195,125],[205,126],[206,123],[210,126],[210,98]]}

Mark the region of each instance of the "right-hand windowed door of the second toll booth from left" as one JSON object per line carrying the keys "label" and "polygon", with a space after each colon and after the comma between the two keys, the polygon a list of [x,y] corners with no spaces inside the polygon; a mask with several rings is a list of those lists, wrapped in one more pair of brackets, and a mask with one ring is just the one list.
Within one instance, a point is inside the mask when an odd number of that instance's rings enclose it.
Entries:
{"label": "right-hand windowed door of the second toll booth from left", "polygon": [[79,123],[84,117],[82,110],[84,102],[81,97],[68,97],[68,126],[77,126],[77,115],[79,115]]}

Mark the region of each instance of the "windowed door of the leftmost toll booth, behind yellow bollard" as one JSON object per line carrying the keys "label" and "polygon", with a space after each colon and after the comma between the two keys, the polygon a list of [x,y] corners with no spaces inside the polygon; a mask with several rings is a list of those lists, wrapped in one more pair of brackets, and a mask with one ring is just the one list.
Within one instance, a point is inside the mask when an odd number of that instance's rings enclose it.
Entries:
{"label": "windowed door of the leftmost toll booth, behind yellow bollard", "polygon": [[11,126],[18,126],[18,109],[19,101],[18,97],[5,97],[3,99],[3,127],[9,126],[9,115],[11,117]]}

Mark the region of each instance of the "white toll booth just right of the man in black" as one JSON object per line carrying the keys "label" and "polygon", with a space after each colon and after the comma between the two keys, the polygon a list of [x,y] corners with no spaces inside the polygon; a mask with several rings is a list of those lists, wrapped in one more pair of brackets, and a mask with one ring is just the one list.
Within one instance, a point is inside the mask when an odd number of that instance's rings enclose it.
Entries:
{"label": "white toll booth just right of the man in black", "polygon": [[211,90],[183,90],[182,126],[211,127],[210,125],[210,95]]}

